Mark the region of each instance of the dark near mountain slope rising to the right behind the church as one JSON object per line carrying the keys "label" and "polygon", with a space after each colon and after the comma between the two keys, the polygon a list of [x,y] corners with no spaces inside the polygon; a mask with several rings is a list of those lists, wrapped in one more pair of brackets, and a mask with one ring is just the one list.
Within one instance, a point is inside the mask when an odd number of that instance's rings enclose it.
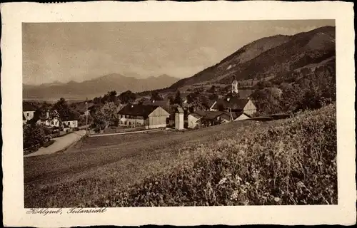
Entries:
{"label": "dark near mountain slope rising to the right behind the church", "polygon": [[335,27],[325,26],[293,36],[271,36],[253,41],[214,66],[183,78],[170,89],[205,83],[282,76],[308,64],[336,56]]}

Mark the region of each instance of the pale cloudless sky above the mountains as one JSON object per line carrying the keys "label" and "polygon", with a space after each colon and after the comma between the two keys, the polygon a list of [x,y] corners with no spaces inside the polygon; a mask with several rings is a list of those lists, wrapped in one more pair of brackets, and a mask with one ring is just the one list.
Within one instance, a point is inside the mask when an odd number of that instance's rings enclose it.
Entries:
{"label": "pale cloudless sky above the mountains", "polygon": [[191,77],[258,38],[333,20],[22,24],[23,83],[86,81],[110,73]]}

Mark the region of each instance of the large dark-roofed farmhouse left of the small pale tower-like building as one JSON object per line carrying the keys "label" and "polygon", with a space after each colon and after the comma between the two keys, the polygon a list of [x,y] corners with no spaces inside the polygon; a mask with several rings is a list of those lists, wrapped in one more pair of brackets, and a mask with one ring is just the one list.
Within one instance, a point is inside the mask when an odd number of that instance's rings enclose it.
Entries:
{"label": "large dark-roofed farmhouse left of the small pale tower-like building", "polygon": [[166,128],[170,114],[161,106],[128,104],[118,112],[119,125],[136,128]]}

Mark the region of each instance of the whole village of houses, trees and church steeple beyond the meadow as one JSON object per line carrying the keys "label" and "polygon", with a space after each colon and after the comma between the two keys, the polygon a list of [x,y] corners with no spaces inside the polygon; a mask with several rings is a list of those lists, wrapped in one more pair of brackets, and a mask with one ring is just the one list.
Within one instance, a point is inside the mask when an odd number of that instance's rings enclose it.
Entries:
{"label": "whole village of houses, trees and church steeple beyond the meadow", "polygon": [[[215,92],[213,86],[213,92]],[[68,143],[61,143],[59,151],[66,150],[67,145],[72,145],[84,136],[105,136],[105,135],[123,135],[126,133],[147,133],[157,130],[195,130],[206,128],[212,125],[230,123],[238,120],[248,120],[256,116],[256,105],[248,96],[241,98],[238,82],[234,79],[231,83],[231,90],[223,95],[217,95],[215,100],[208,100],[205,105],[199,105],[195,102],[189,102],[189,95],[180,92],[176,93],[176,98],[164,95],[159,100],[154,97],[144,97],[141,99],[130,100],[128,103],[119,103],[113,105],[113,110],[101,110],[101,115],[97,118],[94,113],[95,104],[93,100],[86,100],[85,105],[81,105],[81,110],[77,115],[72,114],[71,110],[56,110],[56,105],[49,105],[41,110],[31,103],[24,103],[23,107],[23,124],[42,125],[46,128],[46,136],[36,142],[26,143],[24,138],[24,151],[26,155],[36,155],[40,147],[54,147],[59,137],[65,135],[74,135],[69,138]],[[156,95],[156,97],[158,97]],[[180,100],[175,103],[175,100]],[[60,99],[57,102],[66,101]],[[104,112],[104,113],[103,113]],[[107,112],[107,113],[105,113]],[[64,113],[64,114],[63,114]],[[106,116],[116,116],[114,121]],[[107,121],[104,121],[107,120]],[[99,123],[98,123],[99,122]],[[25,130],[26,128],[24,128]],[[30,133],[34,137],[33,133]],[[80,135],[80,137],[78,137]],[[31,137],[30,137],[31,138]],[[31,139],[30,139],[31,140]],[[55,143],[56,144],[56,143]],[[44,150],[44,149],[42,149]],[[47,149],[46,149],[47,150]],[[52,151],[56,152],[56,151]],[[39,153],[41,155],[42,153]]]}

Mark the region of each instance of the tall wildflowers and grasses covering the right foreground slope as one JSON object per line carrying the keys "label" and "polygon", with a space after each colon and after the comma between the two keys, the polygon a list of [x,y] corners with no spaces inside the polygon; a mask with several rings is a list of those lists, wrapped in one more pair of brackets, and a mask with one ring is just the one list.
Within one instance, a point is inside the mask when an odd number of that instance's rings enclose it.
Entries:
{"label": "tall wildflowers and grasses covering the right foreground slope", "polygon": [[336,105],[180,152],[179,162],[87,207],[337,204]]}

